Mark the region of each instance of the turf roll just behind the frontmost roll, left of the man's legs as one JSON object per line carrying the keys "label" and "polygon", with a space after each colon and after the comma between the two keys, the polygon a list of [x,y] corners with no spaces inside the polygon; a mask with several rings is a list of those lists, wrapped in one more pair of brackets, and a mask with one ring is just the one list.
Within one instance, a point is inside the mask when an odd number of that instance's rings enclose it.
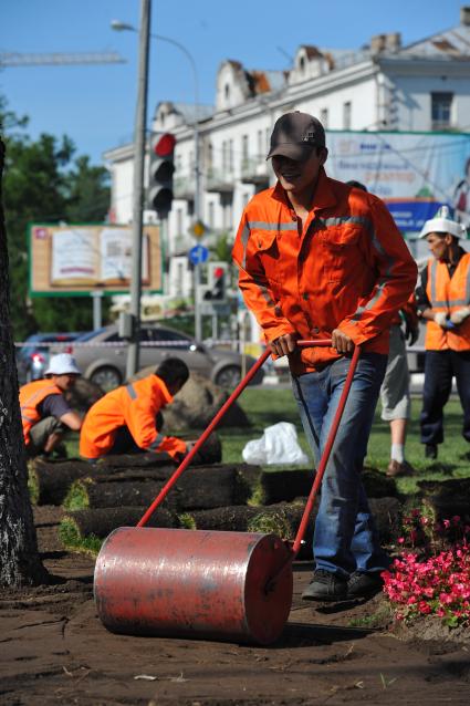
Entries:
{"label": "turf roll just behind the frontmost roll, left of the man's legs", "polygon": [[[105,482],[96,476],[82,478],[72,485],[64,506],[67,509],[148,507],[164,485],[150,479]],[[250,488],[237,466],[192,468],[177,480],[165,505],[178,511],[209,509],[241,505],[249,496]]]}

